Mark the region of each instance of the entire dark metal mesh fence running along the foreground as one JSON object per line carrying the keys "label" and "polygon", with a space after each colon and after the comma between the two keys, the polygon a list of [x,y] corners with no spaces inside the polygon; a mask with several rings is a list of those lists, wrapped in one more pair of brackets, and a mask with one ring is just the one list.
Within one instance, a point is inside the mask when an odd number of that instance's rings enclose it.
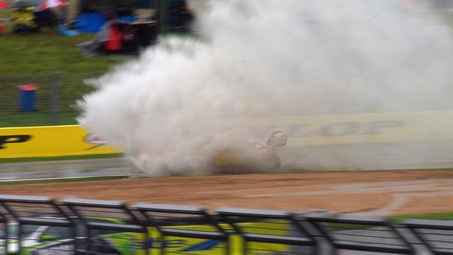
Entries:
{"label": "entire dark metal mesh fence running along the foreground", "polygon": [[453,254],[453,222],[0,195],[0,254]]}

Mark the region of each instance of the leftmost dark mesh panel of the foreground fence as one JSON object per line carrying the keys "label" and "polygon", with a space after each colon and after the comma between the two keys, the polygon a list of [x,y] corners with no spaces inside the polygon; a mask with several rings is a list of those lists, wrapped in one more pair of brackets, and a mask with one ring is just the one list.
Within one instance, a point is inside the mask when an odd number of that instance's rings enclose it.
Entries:
{"label": "leftmost dark mesh panel of the foreground fence", "polygon": [[64,254],[73,249],[72,241],[63,240],[75,240],[75,222],[54,199],[47,196],[0,195],[0,206],[7,223],[3,232],[6,233],[4,254],[17,251],[32,254],[40,241],[46,241],[46,235],[47,238],[59,235],[58,240],[47,242],[47,252]]}

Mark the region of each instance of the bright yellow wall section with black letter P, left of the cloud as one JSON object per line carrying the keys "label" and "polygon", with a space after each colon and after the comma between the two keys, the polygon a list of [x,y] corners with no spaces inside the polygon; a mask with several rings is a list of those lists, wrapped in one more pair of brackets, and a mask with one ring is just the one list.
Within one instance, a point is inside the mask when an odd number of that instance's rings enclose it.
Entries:
{"label": "bright yellow wall section with black letter P, left of the cloud", "polygon": [[121,153],[79,125],[0,128],[0,158]]}

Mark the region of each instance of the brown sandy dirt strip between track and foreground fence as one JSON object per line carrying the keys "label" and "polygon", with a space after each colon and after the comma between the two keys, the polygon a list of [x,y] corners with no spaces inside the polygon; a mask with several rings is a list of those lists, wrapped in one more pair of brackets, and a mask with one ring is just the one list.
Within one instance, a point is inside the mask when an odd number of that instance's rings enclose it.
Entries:
{"label": "brown sandy dirt strip between track and foreground fence", "polygon": [[453,211],[453,171],[355,171],[0,186],[0,194],[359,215]]}

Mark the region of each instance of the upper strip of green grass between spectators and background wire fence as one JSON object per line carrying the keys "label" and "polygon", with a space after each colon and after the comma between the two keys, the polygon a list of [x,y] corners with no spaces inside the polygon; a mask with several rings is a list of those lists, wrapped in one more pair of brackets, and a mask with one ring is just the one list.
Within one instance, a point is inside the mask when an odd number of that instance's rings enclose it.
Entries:
{"label": "upper strip of green grass between spectators and background wire fence", "polygon": [[47,32],[1,36],[1,70],[11,76],[50,75],[53,72],[79,76],[99,75],[115,63],[112,58],[82,56],[75,45],[91,40],[93,34],[75,37]]}

